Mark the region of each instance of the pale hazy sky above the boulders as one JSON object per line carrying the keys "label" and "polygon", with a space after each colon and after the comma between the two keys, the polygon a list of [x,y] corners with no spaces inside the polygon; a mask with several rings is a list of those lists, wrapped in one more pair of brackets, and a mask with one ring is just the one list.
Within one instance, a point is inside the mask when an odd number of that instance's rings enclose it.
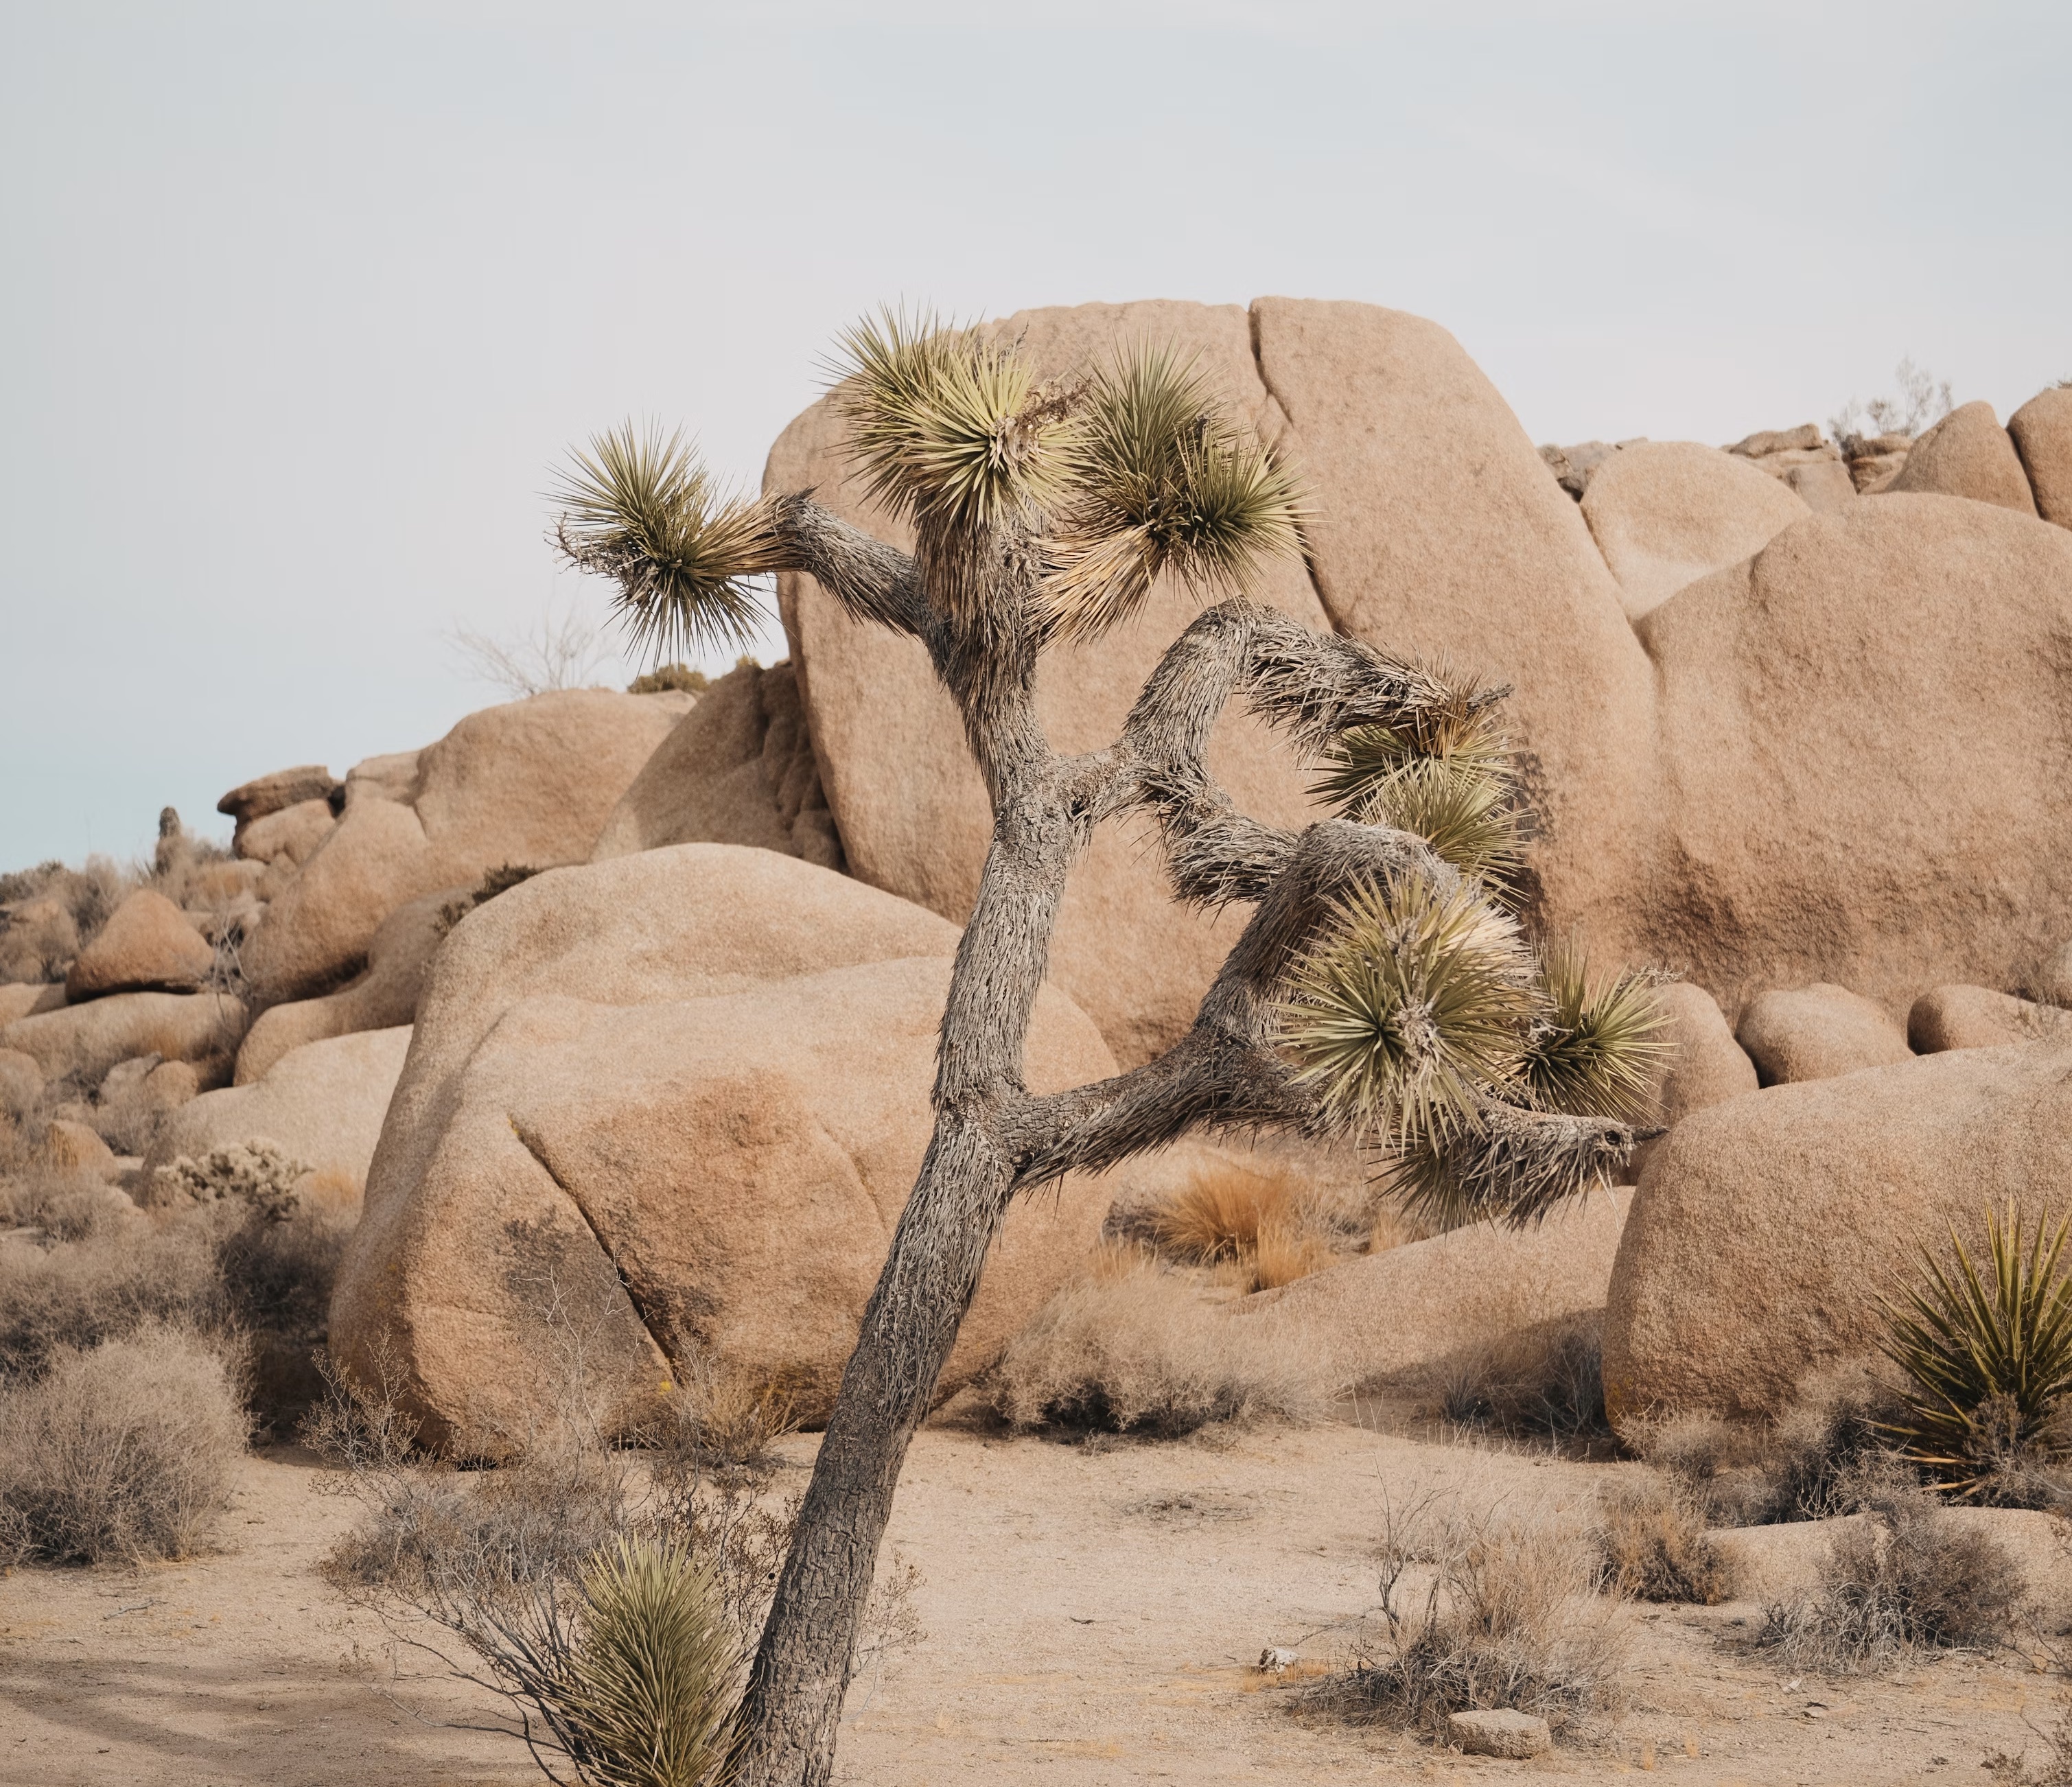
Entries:
{"label": "pale hazy sky above the boulders", "polygon": [[0,21],[0,868],[431,741],[452,627],[603,613],[566,443],[754,482],[881,300],[1394,304],[1535,441],[2072,375],[2062,0]]}

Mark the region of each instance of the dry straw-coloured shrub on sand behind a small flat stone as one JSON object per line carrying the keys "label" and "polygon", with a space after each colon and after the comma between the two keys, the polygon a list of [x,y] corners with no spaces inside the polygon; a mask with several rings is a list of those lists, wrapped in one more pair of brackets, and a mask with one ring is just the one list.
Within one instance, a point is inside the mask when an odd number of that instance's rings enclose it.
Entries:
{"label": "dry straw-coloured shrub on sand behind a small flat stone", "polygon": [[1556,1729],[1616,1710],[1624,1638],[1581,1532],[1432,1493],[1384,1510],[1386,1638],[1314,1694],[1345,1717],[1444,1739],[1455,1712],[1513,1706]]}

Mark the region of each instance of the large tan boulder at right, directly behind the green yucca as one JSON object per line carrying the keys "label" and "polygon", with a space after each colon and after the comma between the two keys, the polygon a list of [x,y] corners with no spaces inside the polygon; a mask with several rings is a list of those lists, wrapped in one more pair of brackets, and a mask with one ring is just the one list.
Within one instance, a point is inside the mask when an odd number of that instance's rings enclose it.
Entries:
{"label": "large tan boulder at right, directly behind the green yucca", "polygon": [[1869,1356],[1879,1298],[2072,1176],[2072,1050],[1966,1048],[1685,1118],[1647,1162],[1604,1327],[1614,1423],[1772,1420]]}

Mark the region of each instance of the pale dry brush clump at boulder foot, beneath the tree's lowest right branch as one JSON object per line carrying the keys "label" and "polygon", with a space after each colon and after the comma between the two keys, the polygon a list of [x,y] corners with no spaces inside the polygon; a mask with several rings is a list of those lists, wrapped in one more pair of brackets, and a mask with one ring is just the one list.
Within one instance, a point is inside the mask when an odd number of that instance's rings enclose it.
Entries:
{"label": "pale dry brush clump at boulder foot, beneath the tree's lowest right branch", "polygon": [[1287,1342],[1231,1319],[1185,1276],[1109,1247],[1021,1329],[988,1379],[1017,1429],[1077,1427],[1173,1439],[1210,1420],[1314,1420],[1332,1385]]}

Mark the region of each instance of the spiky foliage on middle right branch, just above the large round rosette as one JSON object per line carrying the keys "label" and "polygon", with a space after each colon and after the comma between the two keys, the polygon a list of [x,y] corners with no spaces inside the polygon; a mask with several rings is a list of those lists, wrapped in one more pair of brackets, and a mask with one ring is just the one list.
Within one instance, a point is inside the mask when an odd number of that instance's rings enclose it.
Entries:
{"label": "spiky foliage on middle right branch, just above the large round rosette", "polygon": [[1508,895],[1525,866],[1510,741],[1473,687],[1401,725],[1345,731],[1310,797],[1343,818],[1415,832],[1498,895]]}

